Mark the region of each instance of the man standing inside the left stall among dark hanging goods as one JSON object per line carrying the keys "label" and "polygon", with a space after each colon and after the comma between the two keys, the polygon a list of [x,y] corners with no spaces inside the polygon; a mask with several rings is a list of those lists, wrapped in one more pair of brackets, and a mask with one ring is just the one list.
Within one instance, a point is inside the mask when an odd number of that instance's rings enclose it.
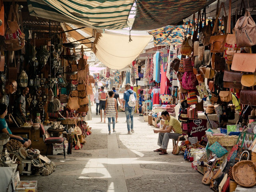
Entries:
{"label": "man standing inside the left stall among dark hanging goods", "polygon": [[18,97],[14,107],[14,116],[26,118],[26,94],[28,94],[28,92],[28,87],[22,90],[22,94]]}

